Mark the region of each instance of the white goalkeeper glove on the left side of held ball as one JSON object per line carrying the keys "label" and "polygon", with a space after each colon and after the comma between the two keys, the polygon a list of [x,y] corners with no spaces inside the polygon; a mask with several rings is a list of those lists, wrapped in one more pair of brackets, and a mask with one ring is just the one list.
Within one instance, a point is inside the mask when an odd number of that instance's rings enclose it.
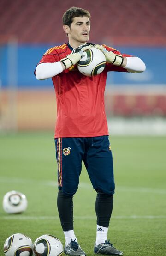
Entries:
{"label": "white goalkeeper glove on the left side of held ball", "polygon": [[84,51],[90,49],[92,46],[91,45],[81,45],[82,48],[77,47],[72,50],[71,54],[66,56],[66,58],[61,59],[60,61],[65,65],[66,69],[75,65],[80,59]]}

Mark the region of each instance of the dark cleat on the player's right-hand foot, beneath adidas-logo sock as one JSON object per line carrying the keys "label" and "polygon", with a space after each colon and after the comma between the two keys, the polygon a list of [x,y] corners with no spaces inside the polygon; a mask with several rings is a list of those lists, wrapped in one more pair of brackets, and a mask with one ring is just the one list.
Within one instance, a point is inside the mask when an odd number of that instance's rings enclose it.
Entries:
{"label": "dark cleat on the player's right-hand foot, beneath adidas-logo sock", "polygon": [[113,247],[113,244],[111,244],[109,240],[106,240],[105,243],[95,245],[94,252],[104,255],[123,255],[123,252]]}

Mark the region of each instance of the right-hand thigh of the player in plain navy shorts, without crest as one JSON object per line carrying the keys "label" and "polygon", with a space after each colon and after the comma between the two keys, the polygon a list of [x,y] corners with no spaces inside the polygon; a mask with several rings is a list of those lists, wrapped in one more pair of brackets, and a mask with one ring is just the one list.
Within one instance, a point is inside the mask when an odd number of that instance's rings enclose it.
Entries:
{"label": "right-hand thigh of the player in plain navy shorts, without crest", "polygon": [[108,136],[93,137],[84,163],[96,191],[114,194],[113,156]]}

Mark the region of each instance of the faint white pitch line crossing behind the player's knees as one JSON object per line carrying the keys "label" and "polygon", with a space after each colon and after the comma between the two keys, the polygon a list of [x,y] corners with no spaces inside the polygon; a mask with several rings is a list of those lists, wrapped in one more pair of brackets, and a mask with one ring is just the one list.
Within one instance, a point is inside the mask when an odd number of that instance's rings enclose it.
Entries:
{"label": "faint white pitch line crossing behind the player's knees", "polygon": [[[42,186],[53,186],[58,187],[57,182],[54,181],[43,181],[43,180],[34,180],[34,179],[26,179],[26,178],[9,178],[9,177],[0,177],[0,183],[12,183],[12,184],[37,184]],[[93,189],[90,183],[80,182],[79,186],[80,189]],[[158,189],[158,188],[142,188],[142,187],[122,187],[116,186],[116,191],[122,192],[135,192],[135,193],[153,193],[153,194],[164,194],[166,195],[166,189]]]}

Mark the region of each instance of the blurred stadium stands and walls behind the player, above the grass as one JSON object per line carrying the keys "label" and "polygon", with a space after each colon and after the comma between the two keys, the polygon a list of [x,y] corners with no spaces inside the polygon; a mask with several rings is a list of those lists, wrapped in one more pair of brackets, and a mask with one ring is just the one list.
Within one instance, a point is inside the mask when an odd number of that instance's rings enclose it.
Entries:
{"label": "blurred stadium stands and walls behind the player, above the grass", "polygon": [[0,131],[53,130],[52,80],[37,81],[42,54],[67,42],[62,15],[91,13],[89,42],[105,43],[146,63],[144,73],[109,73],[105,95],[111,134],[166,134],[166,1],[1,0]]}

